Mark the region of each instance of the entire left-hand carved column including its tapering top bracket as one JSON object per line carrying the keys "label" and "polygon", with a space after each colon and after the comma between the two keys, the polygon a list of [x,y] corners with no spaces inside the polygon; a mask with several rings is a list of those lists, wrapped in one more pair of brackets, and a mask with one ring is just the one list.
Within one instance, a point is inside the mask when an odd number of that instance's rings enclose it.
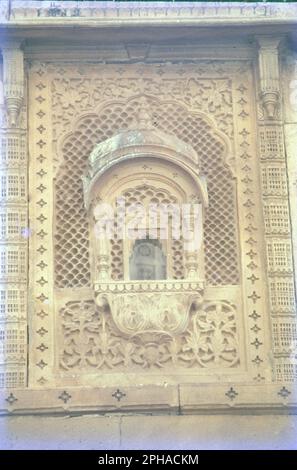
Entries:
{"label": "entire left-hand carved column including its tapering top bracket", "polygon": [[8,389],[27,383],[27,123],[20,46],[1,45],[0,388]]}

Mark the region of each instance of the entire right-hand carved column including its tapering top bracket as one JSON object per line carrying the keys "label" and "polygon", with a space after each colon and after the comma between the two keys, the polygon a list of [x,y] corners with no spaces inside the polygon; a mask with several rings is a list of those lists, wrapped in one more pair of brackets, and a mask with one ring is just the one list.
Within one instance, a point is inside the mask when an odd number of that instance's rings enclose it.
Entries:
{"label": "entire right-hand carved column including its tapering top bracket", "polygon": [[282,38],[257,37],[259,45],[258,135],[270,291],[274,380],[296,380],[292,361],[296,341],[296,304],[292,231],[288,194],[288,161],[284,146],[283,81],[279,46]]}

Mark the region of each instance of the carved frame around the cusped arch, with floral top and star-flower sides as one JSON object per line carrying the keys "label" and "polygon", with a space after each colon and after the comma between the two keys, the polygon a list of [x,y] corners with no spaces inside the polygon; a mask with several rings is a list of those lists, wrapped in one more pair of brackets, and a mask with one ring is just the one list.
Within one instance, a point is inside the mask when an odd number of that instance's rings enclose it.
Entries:
{"label": "carved frame around the cusped arch, with floral top and star-flower sides", "polygon": [[[252,123],[255,121],[256,106],[251,99],[254,87],[252,65],[248,62],[230,64],[206,61],[199,65],[183,67],[158,64],[88,64],[80,67],[66,63],[56,66],[52,63],[33,62],[29,71],[29,83],[32,188],[30,224],[33,229],[30,259],[34,262],[30,267],[33,299],[30,325],[30,385],[49,387],[55,384],[63,385],[65,380],[71,383],[70,376],[67,376],[67,369],[71,367],[65,360],[71,343],[71,321],[69,320],[69,324],[66,320],[61,323],[61,318],[67,317],[71,306],[76,310],[80,302],[87,311],[93,308],[89,303],[92,292],[88,288],[80,289],[79,292],[71,289],[63,292],[53,288],[53,177],[61,164],[61,144],[78,118],[96,112],[96,109],[111,101],[123,101],[139,94],[174,100],[193,112],[204,112],[213,120],[214,126],[230,140],[235,155],[231,163],[237,178],[241,285],[231,289],[232,298],[228,287],[222,287],[219,294],[216,294],[214,289],[209,289],[206,299],[207,305],[222,301],[224,305],[228,303],[231,309],[234,309],[235,305],[236,309],[236,315],[234,313],[229,322],[237,322],[236,343],[239,345],[241,359],[232,364],[231,372],[224,373],[225,377],[227,378],[229,373],[229,377],[236,381],[270,382],[270,309],[265,288],[265,245],[263,215],[258,200],[257,148],[253,138],[255,130]],[[68,315],[71,317],[72,314]],[[92,315],[96,316],[95,310]],[[201,326],[205,319],[201,317],[199,322],[200,327],[205,328],[206,336],[207,327]],[[215,320],[213,322],[212,328]],[[97,329],[98,339],[98,334],[102,335],[103,330],[98,331],[99,325],[94,326],[92,321],[90,323],[91,329]],[[234,333],[231,323],[228,328]],[[84,334],[84,324],[80,332]],[[102,346],[98,346],[96,341],[93,341],[93,349],[86,351],[85,348],[79,352],[79,363],[86,361],[87,357],[92,357],[93,367],[99,367],[99,356],[102,353],[99,349]],[[62,353],[59,349],[61,342],[65,345]],[[84,339],[80,338],[78,342],[85,345]],[[208,342],[211,343],[211,339]],[[114,343],[114,347],[119,346]],[[232,347],[234,349],[234,345],[230,346],[231,351]],[[139,358],[139,364],[142,361],[144,368],[148,366],[149,360],[144,359],[143,352],[136,351],[136,356]],[[152,356],[156,357],[155,351],[151,351],[150,357]],[[95,366],[94,357],[97,357]],[[113,367],[116,367],[118,359],[114,357]],[[71,361],[74,359],[72,354]],[[111,360],[110,356],[109,359]],[[199,360],[201,361],[201,357]],[[66,370],[64,374],[58,372],[61,361]],[[123,363],[122,360],[120,362]],[[203,368],[206,368],[206,362]],[[80,378],[79,375],[74,379],[75,383],[78,381],[81,384],[84,380],[86,379]],[[102,377],[100,380],[102,383]]]}

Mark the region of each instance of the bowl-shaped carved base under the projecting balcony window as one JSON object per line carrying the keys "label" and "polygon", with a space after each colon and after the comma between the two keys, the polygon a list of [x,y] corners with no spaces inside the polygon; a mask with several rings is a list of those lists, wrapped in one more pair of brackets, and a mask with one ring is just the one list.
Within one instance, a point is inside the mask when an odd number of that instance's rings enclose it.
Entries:
{"label": "bowl-shaped carved base under the projecting balcony window", "polygon": [[145,343],[182,334],[203,301],[201,282],[109,283],[95,291],[99,311],[110,313],[118,331]]}

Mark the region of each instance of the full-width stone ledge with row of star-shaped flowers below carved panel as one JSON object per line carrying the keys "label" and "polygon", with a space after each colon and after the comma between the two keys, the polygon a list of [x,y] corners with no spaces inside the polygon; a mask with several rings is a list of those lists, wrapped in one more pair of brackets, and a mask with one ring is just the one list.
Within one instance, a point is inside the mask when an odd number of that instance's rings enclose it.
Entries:
{"label": "full-width stone ledge with row of star-shaped flowers below carved panel", "polygon": [[76,413],[297,414],[294,384],[185,384],[135,387],[13,389],[0,414]]}

